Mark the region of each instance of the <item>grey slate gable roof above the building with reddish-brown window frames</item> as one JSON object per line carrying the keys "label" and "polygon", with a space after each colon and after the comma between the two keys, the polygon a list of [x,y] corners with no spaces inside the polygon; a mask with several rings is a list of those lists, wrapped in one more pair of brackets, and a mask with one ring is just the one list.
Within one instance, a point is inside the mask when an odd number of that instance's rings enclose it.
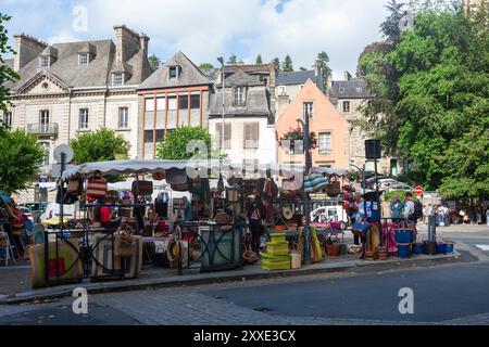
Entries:
{"label": "grey slate gable roof above the building with reddish-brown window frames", "polygon": [[[175,65],[181,67],[180,75],[178,79],[170,80],[170,66]],[[163,89],[206,85],[212,85],[212,81],[188,59],[187,55],[183,52],[178,52],[142,82],[138,89]]]}

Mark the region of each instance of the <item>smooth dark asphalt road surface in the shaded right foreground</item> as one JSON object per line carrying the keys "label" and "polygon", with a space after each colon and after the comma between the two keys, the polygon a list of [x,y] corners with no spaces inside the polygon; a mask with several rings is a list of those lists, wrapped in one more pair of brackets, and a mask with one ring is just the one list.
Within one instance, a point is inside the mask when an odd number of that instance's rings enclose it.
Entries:
{"label": "smooth dark asphalt road surface in the shaded right foreground", "polygon": [[[414,314],[399,312],[402,287],[414,292]],[[489,312],[488,291],[489,264],[477,264],[206,294],[278,316],[440,322]]]}

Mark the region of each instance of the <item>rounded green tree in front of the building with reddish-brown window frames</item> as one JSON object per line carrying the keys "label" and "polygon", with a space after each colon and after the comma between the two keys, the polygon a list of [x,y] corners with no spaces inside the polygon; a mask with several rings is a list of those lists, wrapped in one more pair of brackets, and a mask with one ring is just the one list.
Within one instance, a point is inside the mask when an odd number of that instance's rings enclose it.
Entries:
{"label": "rounded green tree in front of the building with reddish-brown window frames", "polygon": [[[191,141],[201,142],[195,145]],[[160,159],[210,158],[218,157],[218,153],[212,149],[212,138],[208,129],[179,126],[168,132],[166,138],[158,144],[156,157]]]}

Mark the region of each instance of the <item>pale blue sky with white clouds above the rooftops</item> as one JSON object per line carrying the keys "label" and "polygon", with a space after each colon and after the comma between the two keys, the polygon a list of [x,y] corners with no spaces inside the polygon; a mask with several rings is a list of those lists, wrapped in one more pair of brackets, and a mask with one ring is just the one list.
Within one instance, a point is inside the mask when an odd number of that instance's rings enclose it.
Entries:
{"label": "pale blue sky with white clouds above the rooftops", "polygon": [[326,51],[335,79],[354,75],[365,46],[380,40],[387,0],[0,0],[13,35],[25,33],[49,43],[115,40],[125,24],[150,37],[149,52],[163,62],[177,51],[196,64],[218,66],[231,53],[254,63],[284,60],[294,69],[312,68]]}

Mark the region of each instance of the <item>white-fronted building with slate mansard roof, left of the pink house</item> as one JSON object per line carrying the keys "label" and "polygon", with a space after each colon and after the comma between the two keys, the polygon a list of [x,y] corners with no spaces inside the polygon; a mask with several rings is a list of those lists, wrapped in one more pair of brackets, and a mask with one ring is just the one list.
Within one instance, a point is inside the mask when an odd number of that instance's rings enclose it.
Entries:
{"label": "white-fronted building with slate mansard roof, left of the pink house", "polygon": [[[225,67],[224,153],[228,155],[230,163],[248,167],[275,163],[276,144],[273,98],[271,98],[271,86],[275,83],[274,72],[267,75],[261,69],[268,65],[254,65],[248,74],[239,68],[241,66],[243,65]],[[230,70],[235,73],[228,73]],[[214,139],[214,146],[222,149],[222,77],[217,78],[215,93],[211,95],[209,130]]]}

